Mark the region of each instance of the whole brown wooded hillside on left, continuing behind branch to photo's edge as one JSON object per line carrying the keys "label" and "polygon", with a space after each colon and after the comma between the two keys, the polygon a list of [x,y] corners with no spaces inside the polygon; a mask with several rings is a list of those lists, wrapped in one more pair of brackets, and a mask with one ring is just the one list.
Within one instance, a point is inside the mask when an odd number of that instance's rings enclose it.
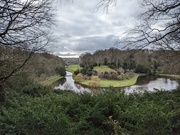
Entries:
{"label": "whole brown wooded hillside on left, continuing behind branch to photo's edge", "polygon": [[18,71],[26,59],[27,62],[19,72],[25,72],[38,82],[60,75],[60,70],[65,70],[65,62],[60,57],[48,53],[30,54],[28,51],[0,45],[0,74],[8,76],[14,70]]}

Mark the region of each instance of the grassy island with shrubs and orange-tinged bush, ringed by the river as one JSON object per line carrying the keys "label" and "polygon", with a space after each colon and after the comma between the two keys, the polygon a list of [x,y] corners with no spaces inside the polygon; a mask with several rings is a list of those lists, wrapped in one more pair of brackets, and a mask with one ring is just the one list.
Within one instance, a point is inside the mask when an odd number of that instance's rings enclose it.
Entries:
{"label": "grassy island with shrubs and orange-tinged bush, ringed by the river", "polygon": [[90,87],[125,87],[134,85],[139,74],[123,68],[112,69],[108,66],[82,68],[79,65],[70,65],[67,70],[74,73],[75,82]]}

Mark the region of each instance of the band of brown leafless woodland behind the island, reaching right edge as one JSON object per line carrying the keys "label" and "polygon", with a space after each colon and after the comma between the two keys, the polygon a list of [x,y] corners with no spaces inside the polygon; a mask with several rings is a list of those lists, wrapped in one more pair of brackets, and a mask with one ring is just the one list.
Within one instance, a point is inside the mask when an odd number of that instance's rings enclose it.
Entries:
{"label": "band of brown leafless woodland behind the island, reaching right edge", "polygon": [[136,72],[154,74],[157,71],[161,73],[179,74],[179,64],[171,65],[171,60],[176,58],[168,57],[168,54],[174,53],[164,50],[119,50],[110,48],[98,50],[91,53],[85,53],[80,56],[80,65],[82,67],[108,65],[110,68],[134,69]]}

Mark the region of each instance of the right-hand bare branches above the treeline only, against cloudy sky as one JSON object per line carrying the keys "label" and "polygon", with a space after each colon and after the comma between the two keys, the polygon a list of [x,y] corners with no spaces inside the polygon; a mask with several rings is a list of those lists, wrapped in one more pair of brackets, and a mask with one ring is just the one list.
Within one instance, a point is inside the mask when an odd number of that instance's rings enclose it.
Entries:
{"label": "right-hand bare branches above the treeline only, against cloudy sky", "polygon": [[126,41],[138,48],[180,50],[180,1],[144,0],[142,6],[147,10]]}

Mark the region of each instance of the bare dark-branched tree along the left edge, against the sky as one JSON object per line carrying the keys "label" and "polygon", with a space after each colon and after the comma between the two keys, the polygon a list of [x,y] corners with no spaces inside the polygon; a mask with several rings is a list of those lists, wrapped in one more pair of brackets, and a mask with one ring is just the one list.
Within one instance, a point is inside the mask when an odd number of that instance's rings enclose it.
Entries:
{"label": "bare dark-branched tree along the left edge, against the sky", "polygon": [[[51,0],[0,0],[0,86],[49,42]],[[17,55],[17,53],[26,54]],[[27,55],[28,54],[28,55]],[[0,88],[2,92],[2,88]]]}

